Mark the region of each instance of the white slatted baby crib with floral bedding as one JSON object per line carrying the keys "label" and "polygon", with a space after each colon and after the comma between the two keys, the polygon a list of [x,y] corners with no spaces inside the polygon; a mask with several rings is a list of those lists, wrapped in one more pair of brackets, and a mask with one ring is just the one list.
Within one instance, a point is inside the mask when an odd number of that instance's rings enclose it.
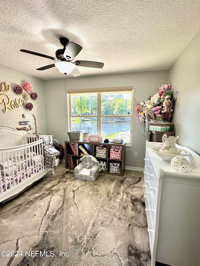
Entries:
{"label": "white slatted baby crib with floral bedding", "polygon": [[0,202],[6,202],[54,169],[44,166],[43,145],[52,135],[26,134],[0,125]]}

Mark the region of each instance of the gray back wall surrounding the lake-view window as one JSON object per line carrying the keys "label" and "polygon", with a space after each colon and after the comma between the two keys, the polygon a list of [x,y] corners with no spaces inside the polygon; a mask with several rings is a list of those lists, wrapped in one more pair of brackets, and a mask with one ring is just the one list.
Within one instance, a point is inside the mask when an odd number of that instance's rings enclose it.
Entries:
{"label": "gray back wall surrounding the lake-view window", "polygon": [[[138,72],[118,75],[67,78],[67,89],[134,86],[134,98],[140,103],[158,91],[159,84],[168,82],[168,71]],[[47,133],[53,134],[61,145],[68,140],[68,108],[64,79],[45,81]],[[135,108],[135,105],[134,105]],[[132,147],[126,148],[126,166],[144,167],[145,142],[149,134],[142,133],[133,118]],[[135,157],[138,152],[138,157]]]}

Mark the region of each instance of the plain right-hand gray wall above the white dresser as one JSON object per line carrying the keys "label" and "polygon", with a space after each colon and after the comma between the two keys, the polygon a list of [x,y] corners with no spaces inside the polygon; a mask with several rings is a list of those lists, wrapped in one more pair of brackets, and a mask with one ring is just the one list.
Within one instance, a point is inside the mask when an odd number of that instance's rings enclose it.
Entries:
{"label": "plain right-hand gray wall above the white dresser", "polygon": [[173,116],[177,143],[200,155],[200,30],[171,67],[169,83],[178,90]]}

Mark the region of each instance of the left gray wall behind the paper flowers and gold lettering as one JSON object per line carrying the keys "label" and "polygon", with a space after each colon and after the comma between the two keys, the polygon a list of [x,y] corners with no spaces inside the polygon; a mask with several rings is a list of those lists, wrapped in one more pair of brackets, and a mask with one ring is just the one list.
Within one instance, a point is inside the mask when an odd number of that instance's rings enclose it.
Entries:
{"label": "left gray wall behind the paper flowers and gold lettering", "polygon": [[[20,85],[23,88],[23,84],[25,82],[30,82],[32,85],[32,92],[36,92],[38,94],[38,98],[36,100],[30,99],[29,101],[24,100],[24,105],[19,108],[15,108],[14,110],[9,110],[6,113],[3,113],[4,105],[0,104],[0,124],[1,125],[9,125],[13,128],[18,128],[18,121],[21,121],[23,112],[32,113],[35,115],[37,119],[37,128],[38,132],[42,134],[47,133],[46,127],[46,112],[45,112],[45,96],[44,96],[44,81],[32,77],[23,72],[14,70],[8,66],[0,64],[0,83],[6,82],[9,85],[9,91],[6,94],[10,97],[11,100],[14,99],[24,99],[24,95],[27,93],[25,89],[23,89],[22,95],[18,95],[14,92],[14,88],[16,85]],[[31,92],[31,93],[32,93]],[[31,95],[30,93],[30,95]],[[2,92],[0,92],[2,94]],[[6,97],[7,98],[7,97]],[[1,99],[2,102],[2,99]],[[26,107],[27,102],[31,102],[33,104],[32,111],[29,111]],[[26,114],[26,120],[31,121],[31,125],[34,128],[32,131],[28,131],[28,133],[35,133],[35,123],[34,118],[30,114]],[[1,148],[1,147],[0,147]]]}

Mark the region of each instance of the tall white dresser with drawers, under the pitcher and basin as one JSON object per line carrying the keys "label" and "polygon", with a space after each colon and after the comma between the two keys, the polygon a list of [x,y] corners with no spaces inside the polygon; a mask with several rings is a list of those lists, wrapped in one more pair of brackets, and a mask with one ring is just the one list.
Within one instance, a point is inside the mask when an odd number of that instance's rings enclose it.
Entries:
{"label": "tall white dresser with drawers, under the pitcher and basin", "polygon": [[[144,198],[151,249],[155,261],[172,266],[200,266],[200,156],[190,152],[188,173],[178,173],[151,151],[146,142]],[[189,172],[193,169],[191,172]]]}

